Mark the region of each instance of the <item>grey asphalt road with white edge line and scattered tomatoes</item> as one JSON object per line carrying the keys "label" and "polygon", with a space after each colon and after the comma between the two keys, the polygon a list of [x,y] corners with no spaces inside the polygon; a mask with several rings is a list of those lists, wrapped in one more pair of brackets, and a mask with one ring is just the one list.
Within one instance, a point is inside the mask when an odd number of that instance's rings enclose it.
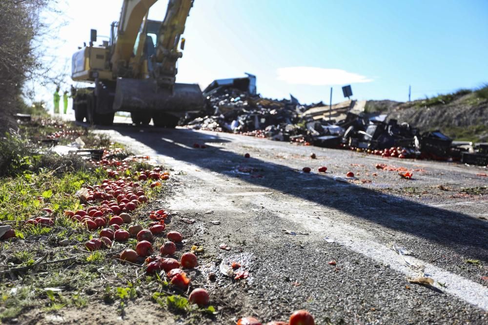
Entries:
{"label": "grey asphalt road with white edge line and scattered tomatoes", "polygon": [[[318,324],[488,323],[486,169],[185,129],[100,132],[174,170],[161,203],[197,220],[185,231],[216,256],[201,270],[217,281],[203,285],[236,317],[285,320],[304,308]],[[378,163],[407,167],[413,179]],[[349,171],[357,179],[334,178]],[[218,271],[223,258],[241,261],[249,278],[230,282]],[[419,268],[433,286],[407,281]]]}

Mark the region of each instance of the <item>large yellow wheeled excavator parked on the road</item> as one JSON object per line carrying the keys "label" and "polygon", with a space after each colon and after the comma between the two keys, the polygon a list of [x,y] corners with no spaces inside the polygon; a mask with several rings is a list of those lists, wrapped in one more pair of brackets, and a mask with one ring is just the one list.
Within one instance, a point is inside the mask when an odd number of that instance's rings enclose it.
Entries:
{"label": "large yellow wheeled excavator parked on the road", "polygon": [[122,111],[130,112],[135,124],[152,118],[155,126],[175,127],[185,112],[203,108],[198,84],[176,83],[176,63],[183,56],[178,45],[193,0],[169,0],[164,20],[149,20],[157,1],[123,0],[109,40],[94,45],[92,29],[88,46],[73,55],[71,78],[93,84],[72,89],[77,121],[112,125],[115,112]]}

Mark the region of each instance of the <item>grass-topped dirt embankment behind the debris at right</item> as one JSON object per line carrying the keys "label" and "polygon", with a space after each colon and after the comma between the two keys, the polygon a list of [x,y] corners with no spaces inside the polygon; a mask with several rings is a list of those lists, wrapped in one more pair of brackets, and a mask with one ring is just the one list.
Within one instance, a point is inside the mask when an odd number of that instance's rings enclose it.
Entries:
{"label": "grass-topped dirt embankment behind the debris at right", "polygon": [[488,99],[476,92],[459,92],[401,103],[369,100],[367,112],[381,112],[422,132],[441,130],[456,140],[488,141]]}

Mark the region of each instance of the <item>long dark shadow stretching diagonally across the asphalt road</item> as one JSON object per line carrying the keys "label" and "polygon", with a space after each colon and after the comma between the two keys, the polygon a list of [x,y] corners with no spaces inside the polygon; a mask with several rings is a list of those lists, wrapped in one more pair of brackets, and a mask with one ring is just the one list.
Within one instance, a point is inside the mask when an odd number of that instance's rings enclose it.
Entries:
{"label": "long dark shadow stretching diagonally across the asphalt road", "polygon": [[[115,129],[157,153],[435,241],[462,256],[474,255],[477,259],[488,261],[487,224],[466,214],[427,206],[354,184],[338,184],[315,173],[307,174],[304,181],[293,168],[252,157],[246,159],[240,154],[213,147],[211,143],[228,142],[218,134],[157,128],[147,128],[141,133],[139,129],[126,126]],[[192,146],[195,142],[210,145],[207,149],[194,149]],[[260,172],[256,172],[254,177],[233,173],[238,166],[255,168]],[[264,177],[260,178],[257,174]]]}

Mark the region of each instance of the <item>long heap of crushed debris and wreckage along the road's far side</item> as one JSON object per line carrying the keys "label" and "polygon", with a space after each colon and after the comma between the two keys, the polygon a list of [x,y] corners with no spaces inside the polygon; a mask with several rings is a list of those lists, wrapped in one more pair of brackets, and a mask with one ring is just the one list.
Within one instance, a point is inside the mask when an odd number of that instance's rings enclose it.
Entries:
{"label": "long heap of crushed debris and wreckage along the road's far side", "polygon": [[368,114],[366,101],[347,100],[330,107],[322,102],[303,105],[291,95],[290,99],[265,98],[256,93],[256,77],[249,74],[244,78],[215,80],[203,95],[205,109],[187,113],[180,120],[181,126],[384,157],[488,164],[485,147],[453,144],[439,130],[421,133],[408,123],[387,121],[386,115]]}

